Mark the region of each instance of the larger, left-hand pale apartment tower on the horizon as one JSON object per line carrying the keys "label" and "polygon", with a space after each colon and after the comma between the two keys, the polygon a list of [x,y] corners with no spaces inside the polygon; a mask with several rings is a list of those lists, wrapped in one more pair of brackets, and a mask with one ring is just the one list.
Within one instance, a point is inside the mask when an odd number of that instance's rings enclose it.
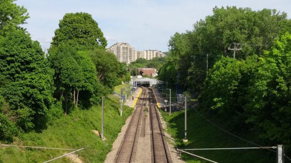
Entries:
{"label": "larger, left-hand pale apartment tower on the horizon", "polygon": [[107,50],[115,54],[118,62],[125,62],[126,64],[129,64],[130,62],[135,61],[137,58],[137,52],[129,43],[118,42],[113,44]]}

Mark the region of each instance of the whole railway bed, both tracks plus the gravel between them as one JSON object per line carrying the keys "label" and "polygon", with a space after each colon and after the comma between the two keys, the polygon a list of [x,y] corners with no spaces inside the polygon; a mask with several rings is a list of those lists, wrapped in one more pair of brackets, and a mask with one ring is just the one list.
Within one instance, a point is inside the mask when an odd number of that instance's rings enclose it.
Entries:
{"label": "whole railway bed, both tracks plus the gravel between them", "polygon": [[142,89],[114,163],[173,163],[153,92]]}

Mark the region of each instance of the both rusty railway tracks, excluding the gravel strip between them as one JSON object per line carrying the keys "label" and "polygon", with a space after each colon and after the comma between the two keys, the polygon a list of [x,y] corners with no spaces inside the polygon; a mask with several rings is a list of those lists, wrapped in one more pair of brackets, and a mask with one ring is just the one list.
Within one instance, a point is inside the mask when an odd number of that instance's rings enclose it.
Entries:
{"label": "both rusty railway tracks, excluding the gravel strip between them", "polygon": [[[132,114],[129,126],[121,145],[117,151],[115,163],[134,163],[138,148],[139,136],[146,135],[146,107],[149,108],[150,142],[152,163],[173,163],[168,151],[167,142],[162,131],[162,123],[156,110],[156,101],[153,91],[142,87],[142,94],[138,99],[136,108]],[[148,92],[148,93],[147,93]],[[148,105],[147,105],[148,104]],[[149,130],[148,130],[149,131]]]}

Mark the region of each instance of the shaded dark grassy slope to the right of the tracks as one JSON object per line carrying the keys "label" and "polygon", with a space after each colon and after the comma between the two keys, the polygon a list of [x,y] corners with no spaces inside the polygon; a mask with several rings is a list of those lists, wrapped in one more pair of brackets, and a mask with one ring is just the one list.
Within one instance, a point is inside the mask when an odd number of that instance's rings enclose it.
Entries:
{"label": "shaded dark grassy slope to the right of the tracks", "polygon": [[[212,125],[202,118],[194,109],[187,109],[187,138],[188,142],[183,143],[184,138],[184,111],[174,112],[171,116],[162,112],[164,120],[167,122],[167,132],[175,138],[179,149],[198,149],[198,148],[239,148],[256,147],[239,138],[231,136],[226,132]],[[205,114],[205,115],[204,115]],[[203,113],[204,117],[210,117]],[[211,122],[222,126],[221,122],[212,119]],[[227,129],[226,129],[227,130]],[[275,146],[262,140],[256,139],[251,133],[235,133],[248,141],[258,143],[261,146]],[[275,150],[275,149],[274,149]],[[275,163],[276,153],[267,149],[236,149],[236,150],[195,150],[189,151],[198,156],[205,157],[218,163]],[[182,159],[188,163],[209,163],[191,155],[182,154]],[[285,159],[285,163],[287,163]],[[289,163],[289,162],[288,162]]]}

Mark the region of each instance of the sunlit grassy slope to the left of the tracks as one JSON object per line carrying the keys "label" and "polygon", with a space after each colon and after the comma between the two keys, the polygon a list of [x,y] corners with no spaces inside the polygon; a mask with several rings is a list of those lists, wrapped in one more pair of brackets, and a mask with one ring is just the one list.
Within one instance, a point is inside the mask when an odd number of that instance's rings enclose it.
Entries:
{"label": "sunlit grassy slope to the left of the tracks", "polygon": [[[122,116],[119,115],[119,98],[109,95],[105,99],[104,112],[104,136],[102,141],[91,130],[101,132],[101,106],[93,106],[90,109],[75,109],[70,114],[60,119],[49,122],[48,128],[40,133],[30,132],[16,137],[14,145],[39,146],[52,148],[81,149],[79,158],[85,163],[101,163],[131,114],[132,109],[124,106]],[[0,148],[0,163],[42,163],[57,156],[63,155],[68,150],[53,149],[29,149],[6,147]],[[58,159],[54,163],[71,163],[66,158]]]}

